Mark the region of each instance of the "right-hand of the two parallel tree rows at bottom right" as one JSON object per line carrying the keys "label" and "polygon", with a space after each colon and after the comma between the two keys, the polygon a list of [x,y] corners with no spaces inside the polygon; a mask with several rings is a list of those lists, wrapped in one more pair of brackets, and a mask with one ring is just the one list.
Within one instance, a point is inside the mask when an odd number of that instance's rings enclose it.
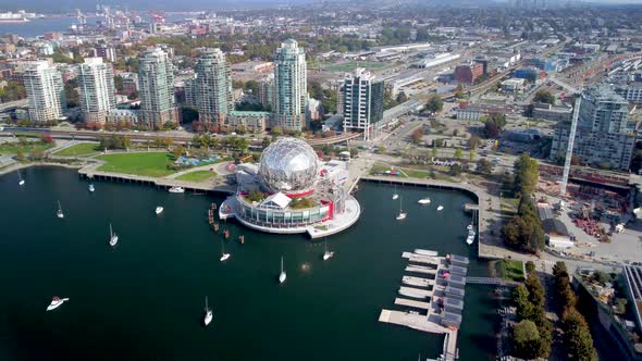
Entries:
{"label": "right-hand of the two parallel tree rows at bottom right", "polygon": [[557,304],[561,311],[564,346],[571,361],[597,361],[597,351],[593,347],[593,337],[584,316],[578,312],[578,299],[570,287],[570,276],[564,262],[553,266]]}

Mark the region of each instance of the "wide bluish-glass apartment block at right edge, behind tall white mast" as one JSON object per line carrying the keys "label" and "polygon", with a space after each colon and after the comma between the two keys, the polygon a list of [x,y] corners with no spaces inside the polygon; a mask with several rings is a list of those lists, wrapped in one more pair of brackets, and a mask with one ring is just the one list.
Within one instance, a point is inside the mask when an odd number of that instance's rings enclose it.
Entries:
{"label": "wide bluish-glass apartment block at right edge, behind tall white mast", "polygon": [[[564,157],[568,147],[570,122],[555,128],[551,160]],[[628,120],[628,102],[606,87],[582,94],[573,157],[598,167],[627,171],[635,145],[635,123]]]}

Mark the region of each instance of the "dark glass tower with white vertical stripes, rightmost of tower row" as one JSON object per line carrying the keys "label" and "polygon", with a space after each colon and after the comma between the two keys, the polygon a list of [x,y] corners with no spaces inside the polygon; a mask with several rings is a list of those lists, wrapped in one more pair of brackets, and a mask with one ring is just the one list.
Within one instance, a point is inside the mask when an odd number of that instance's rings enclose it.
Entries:
{"label": "dark glass tower with white vertical stripes, rightmost of tower row", "polygon": [[376,123],[383,120],[383,82],[375,83],[374,75],[358,67],[346,75],[341,95],[344,130],[361,132],[363,139],[370,140]]}

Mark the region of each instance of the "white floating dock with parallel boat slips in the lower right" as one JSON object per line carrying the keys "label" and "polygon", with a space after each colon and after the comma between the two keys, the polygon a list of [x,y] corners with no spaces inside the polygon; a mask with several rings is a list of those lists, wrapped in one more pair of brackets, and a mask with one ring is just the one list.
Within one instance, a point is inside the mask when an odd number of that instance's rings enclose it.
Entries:
{"label": "white floating dock with parallel boat slips in the lower right", "polygon": [[379,322],[433,334],[445,334],[440,360],[456,360],[458,358],[457,333],[462,319],[468,258],[456,254],[440,257],[435,251],[422,249],[403,252],[402,258],[420,263],[409,263],[405,269],[406,272],[420,273],[423,276],[403,276],[402,283],[407,286],[400,286],[398,292],[404,297],[395,298],[394,304],[404,307],[406,310],[383,309],[379,315]]}

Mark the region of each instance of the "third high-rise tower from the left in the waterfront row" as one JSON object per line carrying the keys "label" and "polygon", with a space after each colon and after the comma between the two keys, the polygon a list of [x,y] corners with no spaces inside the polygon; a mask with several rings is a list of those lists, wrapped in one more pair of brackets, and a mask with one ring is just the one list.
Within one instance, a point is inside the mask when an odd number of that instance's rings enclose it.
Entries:
{"label": "third high-rise tower from the left in the waterfront row", "polygon": [[178,121],[174,98],[174,65],[166,52],[160,48],[143,52],[138,64],[138,86],[141,122],[152,127]]}

